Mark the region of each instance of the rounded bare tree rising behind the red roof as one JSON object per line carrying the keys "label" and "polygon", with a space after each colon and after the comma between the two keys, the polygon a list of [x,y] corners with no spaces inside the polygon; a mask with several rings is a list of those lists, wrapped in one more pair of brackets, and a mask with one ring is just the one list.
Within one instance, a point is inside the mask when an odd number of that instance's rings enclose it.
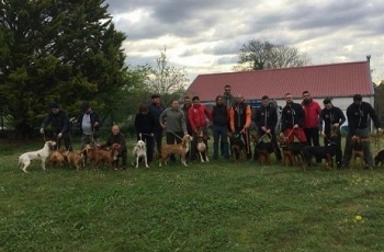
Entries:
{"label": "rounded bare tree rising behind the red roof", "polygon": [[273,44],[268,41],[252,39],[242,45],[235,71],[300,67],[310,62],[306,54],[300,54],[295,47]]}

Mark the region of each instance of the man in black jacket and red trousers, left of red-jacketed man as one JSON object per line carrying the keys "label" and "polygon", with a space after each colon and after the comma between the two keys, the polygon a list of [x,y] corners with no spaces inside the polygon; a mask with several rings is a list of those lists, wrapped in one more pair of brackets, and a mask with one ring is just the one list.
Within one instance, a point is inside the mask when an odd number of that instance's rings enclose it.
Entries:
{"label": "man in black jacket and red trousers, left of red-jacketed man", "polygon": [[304,110],[298,103],[292,101],[292,94],[285,94],[286,105],[281,112],[281,133],[280,136],[289,136],[289,141],[294,142],[296,136],[302,146],[307,145],[307,139],[303,130]]}

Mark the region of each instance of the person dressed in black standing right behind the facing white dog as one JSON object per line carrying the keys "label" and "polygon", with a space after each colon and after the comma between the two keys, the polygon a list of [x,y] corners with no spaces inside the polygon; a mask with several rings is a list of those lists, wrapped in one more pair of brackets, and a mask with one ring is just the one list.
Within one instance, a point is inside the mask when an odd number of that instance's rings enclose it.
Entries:
{"label": "person dressed in black standing right behind the facing white dog", "polygon": [[140,106],[135,117],[135,129],[137,140],[146,142],[148,164],[154,161],[154,136],[156,121],[153,114],[148,113],[147,106]]}

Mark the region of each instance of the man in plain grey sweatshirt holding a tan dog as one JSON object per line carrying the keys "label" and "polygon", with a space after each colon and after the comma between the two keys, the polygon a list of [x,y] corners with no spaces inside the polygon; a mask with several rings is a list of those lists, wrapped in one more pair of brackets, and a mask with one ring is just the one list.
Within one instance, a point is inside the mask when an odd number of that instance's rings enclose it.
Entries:
{"label": "man in plain grey sweatshirt holding a tan dog", "polygon": [[[167,145],[180,144],[182,137],[187,135],[185,116],[179,108],[179,101],[174,100],[172,106],[166,108],[159,118],[159,124],[166,129]],[[170,156],[170,161],[176,162],[174,154]]]}

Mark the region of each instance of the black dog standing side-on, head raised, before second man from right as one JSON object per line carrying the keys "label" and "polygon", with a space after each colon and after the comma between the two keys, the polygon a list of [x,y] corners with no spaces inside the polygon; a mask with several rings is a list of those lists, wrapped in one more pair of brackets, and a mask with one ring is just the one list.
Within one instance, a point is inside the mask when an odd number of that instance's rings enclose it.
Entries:
{"label": "black dog standing side-on, head raised, before second man from right", "polygon": [[340,149],[339,142],[339,127],[332,126],[330,129],[329,144],[327,146],[306,146],[303,149],[304,160],[302,169],[306,172],[306,167],[310,164],[312,158],[320,158],[326,160],[326,170],[330,170],[332,167],[332,157],[336,156]]}

